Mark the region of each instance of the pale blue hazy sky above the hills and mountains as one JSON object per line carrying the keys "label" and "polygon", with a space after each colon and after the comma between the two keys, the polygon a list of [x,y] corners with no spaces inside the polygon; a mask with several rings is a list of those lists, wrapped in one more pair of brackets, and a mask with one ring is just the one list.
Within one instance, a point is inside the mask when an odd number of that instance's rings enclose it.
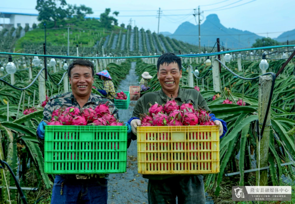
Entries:
{"label": "pale blue hazy sky above the hills and mountains", "polygon": [[[67,0],[68,4],[80,5],[81,2],[92,8],[94,14],[91,16],[99,17],[105,8],[111,8],[111,11],[120,12],[117,17],[119,24],[122,22],[128,24],[130,18],[132,18],[132,27],[134,26],[133,20],[135,20],[137,27],[150,29],[152,32],[158,30],[156,10],[159,7],[163,10],[159,31],[173,33],[182,22],[189,21],[196,24],[192,14],[194,13],[193,9],[196,9],[199,5],[201,11],[204,11],[204,20],[209,14],[217,14],[221,24],[225,27],[248,30],[265,37],[267,35],[268,37],[277,37],[281,32],[295,29],[294,0]],[[204,6],[218,2],[222,3]],[[250,3],[245,4],[247,2]],[[228,4],[232,5],[227,6]],[[245,5],[238,6],[241,4]],[[3,0],[0,4],[0,12],[38,13],[35,6],[36,0]],[[233,6],[237,7],[226,9]],[[219,10],[218,8],[226,10],[214,11],[214,9]],[[0,19],[0,23],[2,22],[3,19]],[[267,32],[268,34],[266,34]]]}

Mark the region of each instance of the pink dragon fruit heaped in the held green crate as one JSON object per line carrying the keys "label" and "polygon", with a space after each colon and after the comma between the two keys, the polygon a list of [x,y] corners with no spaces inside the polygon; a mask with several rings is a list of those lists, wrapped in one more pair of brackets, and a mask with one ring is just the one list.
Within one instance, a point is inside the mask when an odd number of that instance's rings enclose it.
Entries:
{"label": "pink dragon fruit heaped in the held green crate", "polygon": [[50,122],[47,125],[101,125],[101,126],[122,126],[109,110],[108,102],[99,104],[92,108],[68,107],[54,110]]}

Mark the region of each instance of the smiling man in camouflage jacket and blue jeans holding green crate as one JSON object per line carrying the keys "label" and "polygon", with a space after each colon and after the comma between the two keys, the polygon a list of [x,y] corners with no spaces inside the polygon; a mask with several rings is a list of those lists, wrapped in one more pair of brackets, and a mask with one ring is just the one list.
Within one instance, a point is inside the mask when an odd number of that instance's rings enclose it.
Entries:
{"label": "smiling man in camouflage jacket and blue jeans holding green crate", "polygon": [[[52,96],[44,108],[43,120],[50,120],[54,110],[77,107],[93,108],[108,102],[110,111],[117,118],[118,110],[108,98],[91,93],[94,81],[94,65],[88,60],[74,60],[68,67],[68,77],[72,92]],[[41,121],[37,128],[37,138],[44,142],[45,125]],[[130,129],[131,132],[131,128]],[[107,174],[56,175],[51,203],[107,203]]]}

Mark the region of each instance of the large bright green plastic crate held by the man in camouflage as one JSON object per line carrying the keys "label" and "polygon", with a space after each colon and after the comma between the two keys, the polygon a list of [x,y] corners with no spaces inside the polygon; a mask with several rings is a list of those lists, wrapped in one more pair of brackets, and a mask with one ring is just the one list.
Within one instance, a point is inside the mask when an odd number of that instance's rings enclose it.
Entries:
{"label": "large bright green plastic crate held by the man in camouflage", "polygon": [[45,126],[45,173],[126,172],[127,126]]}

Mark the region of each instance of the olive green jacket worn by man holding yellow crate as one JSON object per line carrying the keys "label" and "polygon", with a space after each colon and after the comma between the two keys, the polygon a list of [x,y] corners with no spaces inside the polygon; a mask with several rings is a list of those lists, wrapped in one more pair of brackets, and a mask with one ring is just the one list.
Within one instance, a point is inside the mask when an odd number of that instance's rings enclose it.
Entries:
{"label": "olive green jacket worn by man holding yellow crate", "polygon": [[[165,104],[167,102],[167,98],[171,99],[170,97],[166,96],[162,89],[160,91],[145,93],[136,102],[132,117],[139,118],[140,113],[148,113],[148,109],[150,108],[149,103],[151,103],[152,105],[155,104],[155,102],[160,105]],[[192,102],[194,103],[195,108],[200,107],[205,109],[206,111],[210,111],[204,97],[199,91],[196,91],[193,88],[179,88],[178,96],[175,98],[175,100],[177,101],[178,105],[181,105],[183,102]],[[176,175],[143,175],[142,177],[152,180],[162,180],[173,176]]]}

